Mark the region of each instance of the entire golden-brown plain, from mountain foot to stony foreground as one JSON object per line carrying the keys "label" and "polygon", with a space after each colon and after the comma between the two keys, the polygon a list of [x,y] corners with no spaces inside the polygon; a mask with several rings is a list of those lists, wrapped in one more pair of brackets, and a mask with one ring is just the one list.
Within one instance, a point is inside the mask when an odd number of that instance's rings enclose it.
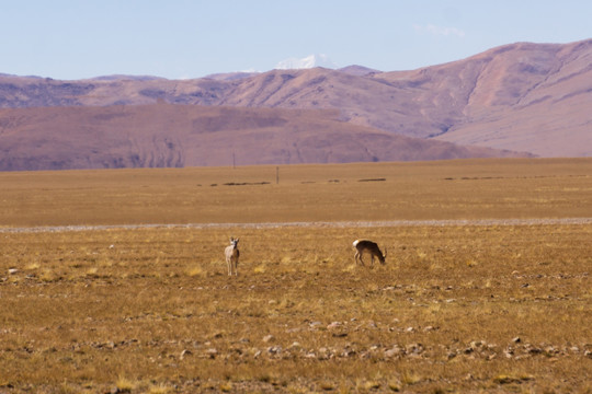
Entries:
{"label": "entire golden-brown plain, from mountain foot to stony foreground", "polygon": [[590,159],[0,185],[0,393],[592,391]]}

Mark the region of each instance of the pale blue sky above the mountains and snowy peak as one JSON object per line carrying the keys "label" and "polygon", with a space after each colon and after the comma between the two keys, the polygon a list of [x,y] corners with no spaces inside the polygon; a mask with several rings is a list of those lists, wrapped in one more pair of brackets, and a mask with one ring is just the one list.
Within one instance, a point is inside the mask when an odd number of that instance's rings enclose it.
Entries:
{"label": "pale blue sky above the mountains and snowy peak", "polygon": [[0,0],[0,73],[169,79],[327,55],[409,70],[592,38],[590,0]]}

